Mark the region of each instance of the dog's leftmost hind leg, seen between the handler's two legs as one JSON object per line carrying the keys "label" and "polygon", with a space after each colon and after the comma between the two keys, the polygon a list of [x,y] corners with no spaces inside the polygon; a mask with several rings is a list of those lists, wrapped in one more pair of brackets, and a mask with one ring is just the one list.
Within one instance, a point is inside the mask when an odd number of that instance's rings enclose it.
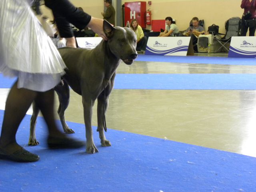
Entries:
{"label": "dog's leftmost hind leg, seen between the handler's two legs", "polygon": [[30,135],[29,135],[28,145],[35,146],[39,144],[39,142],[36,140],[36,118],[40,110],[36,105],[36,102],[34,101],[32,103],[32,108],[33,108],[33,114],[30,118]]}

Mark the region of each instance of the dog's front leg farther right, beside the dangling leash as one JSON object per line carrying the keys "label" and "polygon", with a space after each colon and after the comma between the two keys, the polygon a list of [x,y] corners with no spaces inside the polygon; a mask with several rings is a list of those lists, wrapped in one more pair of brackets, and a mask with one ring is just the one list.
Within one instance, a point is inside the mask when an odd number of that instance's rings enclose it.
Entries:
{"label": "dog's front leg farther right, beside the dangling leash", "polygon": [[[105,105],[105,111],[104,111],[104,105]],[[106,113],[106,110],[108,108],[108,96],[104,96],[104,91],[98,96],[98,106],[97,106],[97,117],[98,117],[98,128],[97,131],[99,132],[100,136],[100,143],[101,146],[111,146],[110,141],[106,140],[104,130],[103,130],[103,116]]]}

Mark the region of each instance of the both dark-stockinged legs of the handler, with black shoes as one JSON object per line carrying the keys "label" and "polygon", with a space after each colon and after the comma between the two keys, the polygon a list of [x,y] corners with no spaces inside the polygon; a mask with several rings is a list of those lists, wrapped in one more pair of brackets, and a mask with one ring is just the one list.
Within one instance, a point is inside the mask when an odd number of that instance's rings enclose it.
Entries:
{"label": "both dark-stockinged legs of the handler, with black shoes", "polygon": [[6,100],[6,108],[2,131],[0,136],[0,158],[8,158],[14,161],[33,162],[39,160],[39,156],[22,148],[16,142],[16,132],[20,122],[24,118],[33,100],[39,104],[39,108],[48,125],[49,135],[52,136],[51,148],[78,148],[84,146],[83,142],[67,138],[62,134],[54,120],[53,102],[54,92],[35,92],[24,88],[17,88],[17,82],[12,86]]}

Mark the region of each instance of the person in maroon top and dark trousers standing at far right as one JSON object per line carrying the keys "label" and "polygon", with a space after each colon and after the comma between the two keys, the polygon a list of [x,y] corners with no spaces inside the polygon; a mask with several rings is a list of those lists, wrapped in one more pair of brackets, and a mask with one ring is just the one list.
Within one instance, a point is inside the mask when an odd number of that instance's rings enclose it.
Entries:
{"label": "person in maroon top and dark trousers standing at far right", "polygon": [[256,30],[256,0],[242,0],[241,8],[244,9],[241,22],[241,36],[254,36]]}

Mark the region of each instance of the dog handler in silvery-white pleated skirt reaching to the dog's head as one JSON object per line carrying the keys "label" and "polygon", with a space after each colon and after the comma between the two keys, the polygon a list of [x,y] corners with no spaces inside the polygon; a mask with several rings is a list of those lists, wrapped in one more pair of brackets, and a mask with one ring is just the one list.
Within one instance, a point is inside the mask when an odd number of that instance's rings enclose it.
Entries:
{"label": "dog handler in silvery-white pleated skirt reaching to the dog's head", "polygon": [[[80,28],[89,26],[107,39],[103,20],[80,12],[68,0],[45,0],[52,10],[66,16]],[[16,76],[5,106],[0,136],[0,158],[34,162],[39,156],[16,142],[16,132],[33,101],[40,108],[48,127],[49,148],[78,148],[84,142],[63,134],[54,119],[54,88],[66,68],[52,40],[44,32],[26,0],[1,0],[0,71]],[[10,46],[11,45],[11,46]]]}

